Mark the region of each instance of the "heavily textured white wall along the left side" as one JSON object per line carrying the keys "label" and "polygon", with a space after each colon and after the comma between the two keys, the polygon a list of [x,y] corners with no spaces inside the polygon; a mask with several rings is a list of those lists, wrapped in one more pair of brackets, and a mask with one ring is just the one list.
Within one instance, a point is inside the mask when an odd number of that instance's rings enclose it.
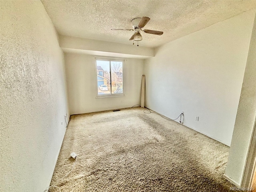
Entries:
{"label": "heavily textured white wall along the left side", "polygon": [[64,56],[39,0],[0,1],[0,26],[0,191],[42,192],[66,131]]}

